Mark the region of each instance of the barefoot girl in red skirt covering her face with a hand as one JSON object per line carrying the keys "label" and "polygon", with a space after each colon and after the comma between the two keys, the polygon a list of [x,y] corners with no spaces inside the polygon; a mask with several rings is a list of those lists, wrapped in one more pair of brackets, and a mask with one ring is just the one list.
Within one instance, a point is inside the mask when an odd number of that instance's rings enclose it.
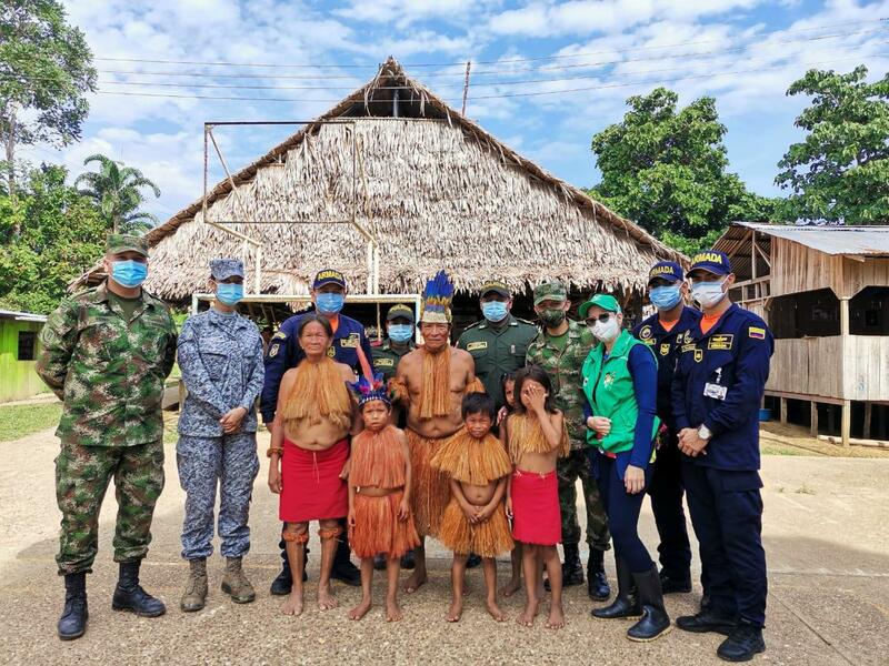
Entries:
{"label": "barefoot girl in red skirt covering her face with a hand", "polygon": [[527,605],[518,622],[532,626],[541,601],[540,563],[547,566],[552,598],[547,627],[565,626],[562,569],[556,545],[561,542],[561,512],[556,458],[568,455],[568,431],[562,413],[552,404],[547,373],[539,365],[516,375],[516,412],[501,436],[515,471],[509,480],[507,511],[512,514],[512,536],[522,543],[522,572]]}

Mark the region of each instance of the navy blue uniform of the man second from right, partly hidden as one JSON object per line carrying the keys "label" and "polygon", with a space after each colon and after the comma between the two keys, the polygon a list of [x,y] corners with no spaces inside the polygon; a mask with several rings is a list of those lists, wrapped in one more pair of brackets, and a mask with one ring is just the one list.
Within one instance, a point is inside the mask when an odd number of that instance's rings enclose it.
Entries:
{"label": "navy blue uniform of the man second from right, partly hidden", "polygon": [[700,319],[699,311],[686,306],[682,307],[679,321],[670,331],[661,325],[657,314],[632,330],[632,334],[649,345],[658,359],[658,416],[663,424],[663,431],[652,466],[648,494],[651,496],[651,511],[660,536],[658,554],[661,573],[679,584],[691,581],[691,546],[688,541],[686,513],[682,509],[685,490],[671,390],[673,371],[679,357],[677,339],[689,329],[696,327]]}

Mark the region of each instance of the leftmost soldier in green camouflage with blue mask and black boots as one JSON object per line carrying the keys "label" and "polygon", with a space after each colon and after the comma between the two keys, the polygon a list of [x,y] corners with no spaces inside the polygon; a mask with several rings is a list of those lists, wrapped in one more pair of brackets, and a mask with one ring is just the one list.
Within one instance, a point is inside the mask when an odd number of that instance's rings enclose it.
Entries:
{"label": "leftmost soldier in green camouflage with blue mask and black boots", "polygon": [[86,574],[99,543],[99,509],[114,478],[114,562],[120,577],[112,607],[142,617],[166,610],[139,585],[151,541],[154,503],[163,488],[163,383],[176,360],[176,326],[167,305],[142,290],[148,273],[142,238],[108,236],[108,280],[66,299],[41,332],[37,372],[64,403],[56,434],[56,495],[62,513],[59,574],[66,604],[59,637],[87,625]]}

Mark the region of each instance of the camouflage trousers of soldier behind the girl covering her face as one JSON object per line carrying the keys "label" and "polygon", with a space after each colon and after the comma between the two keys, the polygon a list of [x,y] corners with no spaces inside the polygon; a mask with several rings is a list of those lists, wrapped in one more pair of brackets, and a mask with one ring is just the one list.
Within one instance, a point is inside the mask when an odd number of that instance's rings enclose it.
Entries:
{"label": "camouflage trousers of soldier behind the girl covering her face", "polygon": [[559,507],[562,513],[562,544],[580,543],[580,523],[577,518],[577,480],[583,488],[587,507],[587,544],[590,549],[608,551],[608,517],[605,514],[599,486],[590,471],[589,453],[586,448],[571,450],[568,457],[556,464],[559,477]]}

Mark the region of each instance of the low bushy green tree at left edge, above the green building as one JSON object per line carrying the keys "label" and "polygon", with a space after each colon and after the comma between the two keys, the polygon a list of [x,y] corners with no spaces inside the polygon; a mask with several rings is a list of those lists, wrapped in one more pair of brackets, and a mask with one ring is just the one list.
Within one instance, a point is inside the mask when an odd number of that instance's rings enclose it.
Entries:
{"label": "low bushy green tree at left edge, above the green building", "polygon": [[14,200],[0,194],[0,307],[48,313],[102,256],[104,222],[66,178],[64,168],[44,165]]}

